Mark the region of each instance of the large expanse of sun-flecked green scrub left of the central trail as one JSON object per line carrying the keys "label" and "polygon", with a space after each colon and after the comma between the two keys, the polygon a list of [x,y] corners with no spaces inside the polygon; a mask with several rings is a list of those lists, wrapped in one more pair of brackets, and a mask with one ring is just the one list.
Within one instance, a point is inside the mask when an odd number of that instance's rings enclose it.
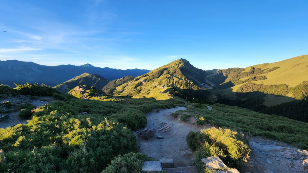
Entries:
{"label": "large expanse of sun-flecked green scrub left of the central trail", "polygon": [[70,98],[38,107],[28,124],[0,129],[0,172],[100,172],[115,156],[137,151],[131,129],[144,127],[144,113],[170,107],[125,98]]}

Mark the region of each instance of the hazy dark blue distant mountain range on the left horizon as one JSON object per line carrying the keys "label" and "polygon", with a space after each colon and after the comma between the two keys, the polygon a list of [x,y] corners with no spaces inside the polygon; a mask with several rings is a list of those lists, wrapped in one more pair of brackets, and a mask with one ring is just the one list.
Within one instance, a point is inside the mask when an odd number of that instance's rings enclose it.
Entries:
{"label": "hazy dark blue distant mountain range on the left horizon", "polygon": [[17,60],[0,61],[0,83],[14,87],[16,83],[44,83],[55,86],[83,73],[98,74],[108,80],[122,78],[127,75],[140,76],[149,70],[118,70],[112,68],[100,68],[91,64],[81,66],[60,65],[43,66],[34,62],[22,62]]}

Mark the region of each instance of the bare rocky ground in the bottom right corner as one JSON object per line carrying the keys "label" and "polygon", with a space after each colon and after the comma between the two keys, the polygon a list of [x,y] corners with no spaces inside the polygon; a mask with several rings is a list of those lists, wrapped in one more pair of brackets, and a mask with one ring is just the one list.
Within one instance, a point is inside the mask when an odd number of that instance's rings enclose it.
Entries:
{"label": "bare rocky ground in the bottom right corner", "polygon": [[[251,158],[249,172],[308,172],[308,152],[290,147],[282,142],[262,138],[252,138],[249,141]],[[245,168],[244,168],[245,169]]]}

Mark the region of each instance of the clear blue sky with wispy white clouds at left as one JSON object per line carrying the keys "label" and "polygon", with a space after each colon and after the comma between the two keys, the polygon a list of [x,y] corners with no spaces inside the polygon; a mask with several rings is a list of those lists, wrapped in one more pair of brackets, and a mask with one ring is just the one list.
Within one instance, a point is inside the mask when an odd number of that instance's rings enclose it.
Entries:
{"label": "clear blue sky with wispy white clouds at left", "polygon": [[306,0],[0,2],[0,60],[210,70],[308,54]]}

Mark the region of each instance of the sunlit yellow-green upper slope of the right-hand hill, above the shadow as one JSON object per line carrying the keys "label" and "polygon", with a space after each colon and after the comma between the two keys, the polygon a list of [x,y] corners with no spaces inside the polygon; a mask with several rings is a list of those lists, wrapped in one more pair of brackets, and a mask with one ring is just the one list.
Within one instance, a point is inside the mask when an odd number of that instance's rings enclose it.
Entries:
{"label": "sunlit yellow-green upper slope of the right-hand hill, above the shadow", "polygon": [[[289,99],[277,99],[277,97],[266,97],[266,102],[270,106],[273,99],[278,103],[288,102],[300,99],[291,89],[295,86],[302,85],[304,81],[308,81],[308,55],[298,56],[274,63],[258,64],[246,68],[231,68],[226,70],[218,70],[217,73],[226,77],[220,88],[215,91],[229,99],[235,99],[233,92],[247,92],[247,87],[253,85],[254,88],[249,91],[261,91],[260,88],[278,86],[286,87],[283,94],[276,91],[267,91],[266,94],[283,95]],[[253,83],[253,84],[249,84]],[[261,86],[263,85],[263,86]],[[282,86],[283,85],[283,86]],[[305,84],[304,84],[305,85]],[[229,89],[228,89],[229,88]],[[231,88],[231,89],[230,89]],[[261,91],[262,92],[262,91]]]}

